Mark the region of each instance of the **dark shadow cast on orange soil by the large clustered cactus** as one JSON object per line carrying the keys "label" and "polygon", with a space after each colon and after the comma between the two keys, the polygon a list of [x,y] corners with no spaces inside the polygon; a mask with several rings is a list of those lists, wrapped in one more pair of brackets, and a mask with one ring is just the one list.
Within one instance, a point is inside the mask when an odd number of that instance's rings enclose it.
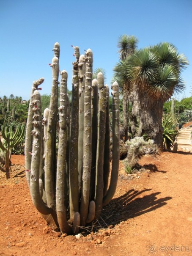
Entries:
{"label": "dark shadow cast on orange soil by the large clustered cactus", "polygon": [[163,198],[157,198],[161,192],[154,192],[148,194],[151,189],[144,189],[141,191],[131,189],[124,195],[112,199],[112,201],[104,206],[101,211],[101,220],[99,223],[102,228],[108,226],[114,226],[121,221],[125,221],[147,212],[154,211],[165,204],[172,197],[167,196]]}

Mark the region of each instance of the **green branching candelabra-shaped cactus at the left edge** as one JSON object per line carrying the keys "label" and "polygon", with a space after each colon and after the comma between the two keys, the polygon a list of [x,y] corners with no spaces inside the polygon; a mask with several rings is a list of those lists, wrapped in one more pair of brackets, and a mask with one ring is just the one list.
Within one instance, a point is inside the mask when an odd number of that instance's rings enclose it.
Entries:
{"label": "green branching candelabra-shaped cactus at the left edge", "polygon": [[0,159],[1,163],[4,163],[5,167],[0,165],[0,170],[6,173],[6,178],[10,178],[9,170],[10,170],[10,160],[11,160],[11,151],[12,149],[22,143],[25,138],[25,126],[21,126],[20,124],[16,127],[16,131],[13,131],[13,127],[10,126],[1,127],[1,134],[4,139],[3,143],[0,140],[0,149],[3,151],[3,162],[2,158]]}

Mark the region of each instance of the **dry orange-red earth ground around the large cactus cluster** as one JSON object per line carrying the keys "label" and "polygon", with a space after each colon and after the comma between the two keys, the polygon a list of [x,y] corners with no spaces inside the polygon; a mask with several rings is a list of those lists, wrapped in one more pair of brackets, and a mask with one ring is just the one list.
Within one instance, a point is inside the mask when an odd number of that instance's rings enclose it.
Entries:
{"label": "dry orange-red earth ground around the large cactus cluster", "polygon": [[146,155],[132,176],[120,162],[100,228],[79,238],[46,225],[30,199],[24,156],[11,160],[11,179],[0,173],[0,256],[192,255],[192,153]]}

